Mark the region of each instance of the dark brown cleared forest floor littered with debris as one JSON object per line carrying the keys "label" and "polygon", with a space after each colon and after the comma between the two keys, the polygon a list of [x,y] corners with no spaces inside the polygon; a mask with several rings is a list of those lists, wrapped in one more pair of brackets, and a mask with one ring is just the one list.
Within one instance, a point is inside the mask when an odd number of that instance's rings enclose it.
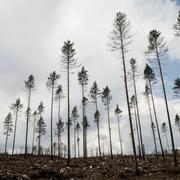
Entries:
{"label": "dark brown cleared forest floor littered with debris", "polygon": [[165,161],[147,156],[138,164],[140,175],[136,176],[133,156],[77,158],[67,165],[66,159],[52,161],[49,156],[0,155],[0,179],[180,179],[180,162],[174,167],[172,156]]}

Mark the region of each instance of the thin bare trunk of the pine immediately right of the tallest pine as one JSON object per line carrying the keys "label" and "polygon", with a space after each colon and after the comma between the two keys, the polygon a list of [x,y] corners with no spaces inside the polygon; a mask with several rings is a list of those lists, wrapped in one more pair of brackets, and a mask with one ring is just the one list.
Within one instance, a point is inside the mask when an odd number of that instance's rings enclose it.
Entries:
{"label": "thin bare trunk of the pine immediately right of the tallest pine", "polygon": [[139,125],[140,148],[142,151],[142,158],[145,159],[143,138],[142,138],[142,131],[141,131],[141,122],[140,122],[140,116],[139,116],[139,105],[138,105],[138,97],[137,97],[137,89],[136,89],[136,79],[135,79],[134,72],[133,72],[133,84],[134,84],[134,95],[135,95],[135,103],[136,103],[136,110],[137,110],[137,119],[138,119],[138,125]]}

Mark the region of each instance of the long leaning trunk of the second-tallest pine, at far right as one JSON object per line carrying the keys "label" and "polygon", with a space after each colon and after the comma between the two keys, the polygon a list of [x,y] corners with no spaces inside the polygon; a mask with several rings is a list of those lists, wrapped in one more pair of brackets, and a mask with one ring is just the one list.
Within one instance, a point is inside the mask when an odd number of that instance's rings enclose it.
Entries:
{"label": "long leaning trunk of the second-tallest pine, at far right", "polygon": [[158,49],[157,49],[157,44],[155,44],[155,48],[156,48],[156,56],[157,56],[157,60],[158,60],[159,72],[160,72],[161,82],[162,82],[162,87],[163,87],[164,100],[165,100],[165,104],[166,104],[166,111],[167,111],[167,117],[168,117],[168,123],[169,123],[169,130],[170,130],[170,135],[171,135],[172,151],[173,151],[173,156],[174,156],[174,165],[177,166],[177,157],[176,157],[176,150],[175,150],[175,145],[174,145],[174,137],[173,137],[171,119],[170,119],[170,114],[169,114],[169,107],[168,107],[167,96],[166,96],[166,89],[165,89],[164,78],[163,78],[163,74],[162,74],[161,62],[160,62],[160,59],[159,59],[159,52],[158,52]]}

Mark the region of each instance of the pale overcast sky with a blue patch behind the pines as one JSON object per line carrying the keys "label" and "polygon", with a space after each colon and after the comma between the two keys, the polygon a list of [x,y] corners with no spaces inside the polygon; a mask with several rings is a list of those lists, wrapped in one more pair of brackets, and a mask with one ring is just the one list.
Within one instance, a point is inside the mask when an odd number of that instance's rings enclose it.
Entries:
{"label": "pale overcast sky with a blue patch behind the pines", "polygon": [[[61,68],[61,48],[64,41],[74,42],[76,58],[89,74],[86,95],[94,81],[97,81],[102,90],[109,86],[112,94],[110,104],[110,118],[112,128],[113,152],[119,152],[117,120],[113,113],[116,104],[122,109],[121,131],[124,153],[132,153],[129,121],[122,79],[122,63],[116,53],[112,53],[110,32],[117,12],[124,12],[131,22],[132,43],[126,57],[128,64],[130,58],[137,60],[139,76],[137,77],[137,91],[139,97],[140,118],[142,123],[143,141],[147,152],[153,151],[153,138],[150,128],[148,106],[144,100],[144,80],[142,77],[147,57],[144,52],[148,46],[148,33],[157,29],[162,33],[169,48],[168,58],[163,61],[165,82],[168,90],[171,121],[176,147],[180,147],[179,134],[174,127],[174,116],[179,112],[179,100],[173,98],[172,86],[176,77],[180,77],[180,38],[174,36],[173,24],[176,23],[177,13],[180,9],[179,1],[172,0],[0,0],[0,151],[4,150],[5,136],[3,135],[3,121],[9,112],[9,107],[17,98],[21,98],[24,108],[18,119],[16,150],[24,147],[25,143],[25,110],[27,108],[27,92],[24,81],[30,74],[35,77],[36,89],[32,94],[31,109],[34,111],[41,101],[44,102],[43,117],[47,124],[47,134],[42,138],[42,145],[47,147],[50,143],[50,100],[51,94],[46,87],[47,77],[52,71],[57,71],[61,78],[64,94],[67,93],[66,73]],[[81,117],[81,87],[78,83],[77,73],[80,68],[74,69],[70,81],[71,110],[77,105]],[[158,73],[158,72],[157,72]],[[158,74],[157,74],[158,76]],[[160,82],[160,81],[158,81]],[[155,103],[159,124],[167,123],[165,104],[162,96],[161,84],[156,86]],[[132,83],[129,83],[130,95],[133,94]],[[97,148],[97,130],[93,122],[95,108],[90,97],[87,107],[88,120],[88,150]],[[98,100],[101,113],[100,134],[101,145],[108,152],[108,122],[107,112],[101,99]],[[61,116],[67,121],[67,100],[62,101]],[[54,104],[54,121],[57,121],[57,104]],[[14,123],[14,116],[13,116]],[[133,121],[134,123],[134,121]],[[30,121],[28,144],[32,144],[32,124]],[[73,132],[73,130],[72,130]],[[63,134],[63,143],[66,144],[67,130]],[[136,136],[135,136],[136,138]],[[73,135],[71,135],[73,145]],[[137,138],[136,138],[137,139]],[[54,137],[56,141],[56,137]],[[37,143],[37,142],[36,142]],[[80,134],[82,146],[82,128]],[[166,147],[165,139],[163,138]],[[170,138],[169,138],[170,143]],[[12,147],[12,136],[9,138],[9,151]],[[159,149],[159,144],[158,144]],[[81,152],[82,153],[82,152]],[[72,151],[73,155],[73,151]]]}

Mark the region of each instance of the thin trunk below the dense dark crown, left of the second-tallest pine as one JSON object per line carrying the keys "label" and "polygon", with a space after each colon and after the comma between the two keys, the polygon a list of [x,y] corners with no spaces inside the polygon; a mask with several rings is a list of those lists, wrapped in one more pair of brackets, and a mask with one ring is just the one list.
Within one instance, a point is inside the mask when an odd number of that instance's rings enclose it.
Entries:
{"label": "thin trunk below the dense dark crown, left of the second-tallest pine", "polygon": [[149,87],[150,87],[150,92],[151,92],[151,99],[152,99],[154,117],[155,117],[157,132],[158,132],[159,144],[160,144],[160,147],[161,147],[162,157],[163,157],[163,159],[164,159],[164,150],[163,150],[163,145],[162,145],[162,140],[161,140],[161,134],[160,134],[160,130],[159,130],[159,124],[158,124],[158,120],[157,120],[157,114],[156,114],[156,108],[155,108],[155,102],[154,102],[154,94],[153,94],[152,84],[151,84],[150,79],[149,79]]}

